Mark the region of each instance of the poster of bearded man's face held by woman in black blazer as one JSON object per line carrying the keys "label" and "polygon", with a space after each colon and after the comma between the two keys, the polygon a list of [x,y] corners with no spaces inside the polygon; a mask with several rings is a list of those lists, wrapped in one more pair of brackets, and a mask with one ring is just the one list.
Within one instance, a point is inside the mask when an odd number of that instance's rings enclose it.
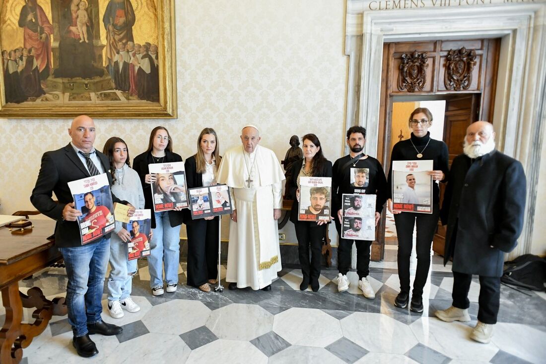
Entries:
{"label": "poster of bearded man's face held by woman in black blazer", "polygon": [[330,221],[331,177],[300,177],[299,221]]}

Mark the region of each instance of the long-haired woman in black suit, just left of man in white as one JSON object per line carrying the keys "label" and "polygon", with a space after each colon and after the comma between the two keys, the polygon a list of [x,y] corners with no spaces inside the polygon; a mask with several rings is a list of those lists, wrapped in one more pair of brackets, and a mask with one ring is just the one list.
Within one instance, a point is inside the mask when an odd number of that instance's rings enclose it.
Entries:
{"label": "long-haired woman in black suit, just left of man in white", "polygon": [[[216,184],[216,172],[220,165],[219,144],[216,131],[205,128],[197,138],[197,153],[184,163],[188,188]],[[212,203],[212,202],[210,202]],[[188,286],[210,292],[210,284],[218,276],[219,217],[192,220],[190,211],[184,211],[188,234]]]}

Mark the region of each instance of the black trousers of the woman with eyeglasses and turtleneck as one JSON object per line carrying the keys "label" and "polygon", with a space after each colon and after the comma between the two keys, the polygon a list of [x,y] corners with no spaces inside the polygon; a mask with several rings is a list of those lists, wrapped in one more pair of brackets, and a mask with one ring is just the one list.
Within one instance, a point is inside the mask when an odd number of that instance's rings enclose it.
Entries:
{"label": "black trousers of the woman with eyeglasses and turtleneck", "polygon": [[400,291],[410,293],[410,257],[413,248],[413,226],[417,224],[417,270],[413,282],[413,296],[422,296],[430,269],[430,248],[438,225],[440,209],[432,207],[432,214],[401,213],[394,215],[398,238],[398,276]]}

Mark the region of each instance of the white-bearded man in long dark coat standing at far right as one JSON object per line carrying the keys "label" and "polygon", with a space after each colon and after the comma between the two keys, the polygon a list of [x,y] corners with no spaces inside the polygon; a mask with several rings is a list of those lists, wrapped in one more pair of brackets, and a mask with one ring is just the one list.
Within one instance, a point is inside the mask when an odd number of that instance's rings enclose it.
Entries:
{"label": "white-bearded man in long dark coat standing at far right", "polygon": [[449,172],[441,218],[447,222],[444,265],[453,257],[453,305],[436,311],[443,321],[470,321],[468,290],[480,282],[478,323],[470,338],[489,343],[500,305],[504,254],[523,228],[526,181],[521,163],[495,150],[488,122],[468,126],[464,154]]}

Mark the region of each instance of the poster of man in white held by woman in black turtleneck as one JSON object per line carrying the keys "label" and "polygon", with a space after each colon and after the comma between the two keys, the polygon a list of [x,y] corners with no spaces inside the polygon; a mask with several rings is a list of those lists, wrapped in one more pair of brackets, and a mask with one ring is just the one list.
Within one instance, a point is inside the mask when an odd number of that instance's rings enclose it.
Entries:
{"label": "poster of man in white held by woman in black turtleneck", "polygon": [[433,161],[393,161],[393,211],[432,214]]}

